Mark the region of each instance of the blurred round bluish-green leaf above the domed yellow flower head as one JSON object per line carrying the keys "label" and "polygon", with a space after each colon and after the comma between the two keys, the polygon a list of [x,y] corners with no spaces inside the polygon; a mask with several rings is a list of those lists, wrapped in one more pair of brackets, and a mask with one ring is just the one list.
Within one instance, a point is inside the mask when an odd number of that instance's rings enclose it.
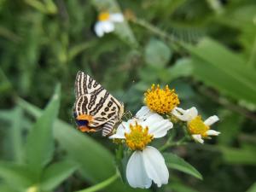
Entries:
{"label": "blurred round bluish-green leaf above the domed yellow flower head", "polygon": [[154,67],[164,67],[171,59],[171,49],[162,41],[150,39],[145,48],[145,61]]}

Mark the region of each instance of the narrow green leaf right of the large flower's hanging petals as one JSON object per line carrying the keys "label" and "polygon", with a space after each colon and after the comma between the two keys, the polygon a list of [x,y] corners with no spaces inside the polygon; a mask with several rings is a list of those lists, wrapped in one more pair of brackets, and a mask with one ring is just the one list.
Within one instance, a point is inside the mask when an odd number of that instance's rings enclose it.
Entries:
{"label": "narrow green leaf right of the large flower's hanging petals", "polygon": [[188,162],[178,157],[176,154],[165,153],[166,166],[171,169],[176,169],[180,172],[188,173],[196,178],[202,179],[201,173],[198,172],[194,166],[191,166]]}

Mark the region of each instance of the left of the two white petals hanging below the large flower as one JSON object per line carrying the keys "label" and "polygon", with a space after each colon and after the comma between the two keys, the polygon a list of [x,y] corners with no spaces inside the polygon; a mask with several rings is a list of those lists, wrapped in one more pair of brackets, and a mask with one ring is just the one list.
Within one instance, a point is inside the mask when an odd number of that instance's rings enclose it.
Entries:
{"label": "left of the two white petals hanging below the large flower", "polygon": [[126,166],[126,178],[133,188],[146,188],[151,186],[152,180],[148,177],[143,164],[143,152],[135,151],[131,154]]}

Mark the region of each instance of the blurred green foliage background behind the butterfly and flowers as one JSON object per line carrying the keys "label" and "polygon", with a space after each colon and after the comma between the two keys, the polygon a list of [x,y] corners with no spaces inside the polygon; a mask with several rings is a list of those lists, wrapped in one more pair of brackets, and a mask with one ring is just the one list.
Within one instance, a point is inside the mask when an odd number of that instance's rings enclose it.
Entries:
{"label": "blurred green foliage background behind the butterfly and flowers", "polygon": [[[102,10],[127,20],[97,38]],[[221,119],[220,136],[169,149],[203,180],[171,169],[151,191],[256,191],[255,0],[0,0],[1,192],[75,191],[114,174],[116,146],[75,130],[79,70],[132,113],[151,84],[169,84],[180,107]]]}

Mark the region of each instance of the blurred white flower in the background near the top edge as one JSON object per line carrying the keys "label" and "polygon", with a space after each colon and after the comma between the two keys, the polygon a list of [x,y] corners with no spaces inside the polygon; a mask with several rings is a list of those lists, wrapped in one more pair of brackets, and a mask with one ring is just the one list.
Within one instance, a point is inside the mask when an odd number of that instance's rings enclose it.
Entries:
{"label": "blurred white flower in the background near the top edge", "polygon": [[98,15],[98,20],[94,26],[94,30],[98,37],[102,37],[104,33],[114,31],[114,23],[124,21],[124,16],[120,13],[111,14],[109,12],[102,12]]}

